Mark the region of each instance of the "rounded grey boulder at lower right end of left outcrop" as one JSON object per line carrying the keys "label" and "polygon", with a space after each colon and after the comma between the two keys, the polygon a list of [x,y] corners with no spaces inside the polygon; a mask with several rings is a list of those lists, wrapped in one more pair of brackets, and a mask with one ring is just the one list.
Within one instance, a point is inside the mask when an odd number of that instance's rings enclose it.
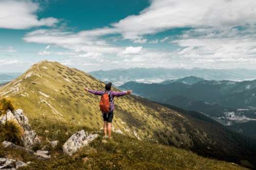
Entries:
{"label": "rounded grey boulder at lower right end of left outcrop", "polygon": [[31,149],[33,145],[40,144],[41,140],[36,135],[35,131],[25,131],[22,136],[22,141],[25,148]]}

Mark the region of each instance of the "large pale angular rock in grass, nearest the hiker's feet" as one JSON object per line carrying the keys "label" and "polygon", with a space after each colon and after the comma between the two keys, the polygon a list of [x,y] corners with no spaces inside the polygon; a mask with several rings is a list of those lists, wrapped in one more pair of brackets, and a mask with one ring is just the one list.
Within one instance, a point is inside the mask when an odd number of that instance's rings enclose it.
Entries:
{"label": "large pale angular rock in grass, nearest the hiker's feet", "polygon": [[72,135],[66,141],[66,143],[63,144],[62,146],[63,152],[71,156],[82,147],[88,145],[91,141],[93,141],[98,136],[99,136],[98,134],[88,135],[88,132],[84,132],[84,130],[81,130],[80,132],[77,132],[74,135]]}

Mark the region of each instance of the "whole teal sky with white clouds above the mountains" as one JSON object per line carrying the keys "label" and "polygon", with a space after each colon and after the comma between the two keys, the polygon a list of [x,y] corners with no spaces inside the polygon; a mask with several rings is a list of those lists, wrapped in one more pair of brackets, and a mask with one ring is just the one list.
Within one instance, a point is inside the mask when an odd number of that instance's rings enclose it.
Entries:
{"label": "whole teal sky with white clouds above the mountains", "polygon": [[255,0],[0,0],[0,72],[255,68]]}

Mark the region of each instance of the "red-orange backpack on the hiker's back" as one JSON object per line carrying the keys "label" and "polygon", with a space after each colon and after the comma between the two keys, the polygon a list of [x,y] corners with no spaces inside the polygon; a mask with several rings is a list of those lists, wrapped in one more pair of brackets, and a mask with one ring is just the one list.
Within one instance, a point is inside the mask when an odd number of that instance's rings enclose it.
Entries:
{"label": "red-orange backpack on the hiker's back", "polygon": [[99,102],[100,110],[104,113],[110,112],[112,101],[111,91],[104,91]]}

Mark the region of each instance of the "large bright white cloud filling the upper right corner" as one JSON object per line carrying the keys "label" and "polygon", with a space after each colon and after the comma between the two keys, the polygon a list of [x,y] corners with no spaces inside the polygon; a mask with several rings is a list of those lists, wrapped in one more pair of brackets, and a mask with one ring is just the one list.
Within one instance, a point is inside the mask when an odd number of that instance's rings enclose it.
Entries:
{"label": "large bright white cloud filling the upper right corner", "polygon": [[151,5],[139,15],[128,16],[112,26],[124,38],[138,39],[172,28],[254,24],[255,10],[254,0],[152,0]]}

